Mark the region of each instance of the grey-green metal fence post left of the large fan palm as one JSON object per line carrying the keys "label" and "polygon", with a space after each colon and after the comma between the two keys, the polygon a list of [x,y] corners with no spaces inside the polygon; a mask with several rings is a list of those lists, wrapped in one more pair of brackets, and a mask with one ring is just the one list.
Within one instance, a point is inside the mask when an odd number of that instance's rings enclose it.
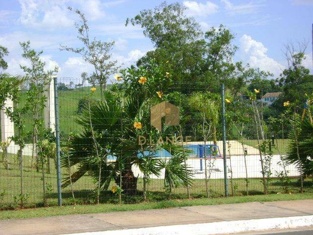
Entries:
{"label": "grey-green metal fence post left of the large fan palm", "polygon": [[57,77],[53,78],[54,83],[54,112],[55,112],[55,144],[57,154],[57,184],[58,184],[58,205],[62,206],[61,195],[61,161],[60,161],[60,132],[59,132],[59,102]]}

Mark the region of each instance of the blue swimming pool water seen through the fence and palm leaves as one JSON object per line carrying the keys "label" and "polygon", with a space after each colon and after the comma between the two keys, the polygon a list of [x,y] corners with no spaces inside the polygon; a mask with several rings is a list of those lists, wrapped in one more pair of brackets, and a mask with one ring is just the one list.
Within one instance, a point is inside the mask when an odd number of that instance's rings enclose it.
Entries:
{"label": "blue swimming pool water seen through the fence and palm leaves", "polygon": [[[195,158],[201,158],[204,155],[204,145],[203,144],[188,144],[184,145],[188,150],[191,152],[188,153],[190,157],[195,157]],[[217,153],[215,154],[214,157],[221,157],[220,151],[219,151],[219,146],[214,145],[214,144],[208,144],[206,145],[206,156],[207,157],[213,157],[212,153],[214,152],[214,148],[217,150]],[[146,156],[149,155],[149,151],[144,151],[144,154]],[[151,155],[151,153],[150,153]],[[153,154],[155,158],[170,158],[172,155],[166,151],[165,149],[158,150],[156,153]],[[142,157],[141,153],[138,153],[138,157]],[[108,155],[109,160],[116,160],[116,157],[112,155]]]}

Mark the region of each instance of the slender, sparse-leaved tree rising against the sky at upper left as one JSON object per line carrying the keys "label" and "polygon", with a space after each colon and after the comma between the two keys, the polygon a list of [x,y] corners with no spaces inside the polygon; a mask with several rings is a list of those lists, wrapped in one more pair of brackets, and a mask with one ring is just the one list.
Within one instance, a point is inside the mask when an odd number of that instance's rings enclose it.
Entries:
{"label": "slender, sparse-leaved tree rising against the sky at upper left", "polygon": [[[72,11],[71,7],[68,7]],[[61,50],[71,51],[83,56],[94,67],[94,73],[97,84],[100,85],[101,95],[103,89],[107,88],[107,80],[110,75],[115,73],[119,67],[116,66],[117,61],[112,61],[112,55],[110,54],[115,42],[102,42],[94,38],[89,38],[89,26],[87,24],[84,13],[80,10],[75,10],[75,13],[80,17],[81,22],[75,23],[75,27],[78,30],[78,39],[83,43],[83,47],[67,47],[60,46]],[[102,97],[102,96],[101,96]]]}

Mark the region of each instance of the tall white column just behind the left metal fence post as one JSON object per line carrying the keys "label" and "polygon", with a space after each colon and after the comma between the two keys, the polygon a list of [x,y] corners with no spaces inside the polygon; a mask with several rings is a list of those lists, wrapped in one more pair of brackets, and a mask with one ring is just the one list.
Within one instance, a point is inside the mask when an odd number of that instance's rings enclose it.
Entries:
{"label": "tall white column just behind the left metal fence post", "polygon": [[52,75],[50,84],[46,85],[45,96],[45,128],[51,128],[55,133],[55,111],[54,111],[54,84],[53,79],[56,75]]}

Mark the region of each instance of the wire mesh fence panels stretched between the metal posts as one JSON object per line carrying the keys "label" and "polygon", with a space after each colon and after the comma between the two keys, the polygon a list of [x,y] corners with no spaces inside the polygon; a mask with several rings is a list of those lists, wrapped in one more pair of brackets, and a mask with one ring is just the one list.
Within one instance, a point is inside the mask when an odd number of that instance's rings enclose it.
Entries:
{"label": "wire mesh fence panels stretched between the metal posts", "polygon": [[[168,94],[145,90],[131,98],[118,83],[102,93],[99,85],[80,78],[57,78],[57,85],[63,204],[224,196],[221,96],[205,95],[207,85],[174,84]],[[22,97],[26,92],[27,87],[21,90]],[[266,117],[271,108],[263,101],[232,95],[225,99],[228,194],[299,192],[301,167],[285,159],[295,141],[292,123]],[[10,100],[5,105],[17,107]],[[53,84],[45,89],[45,108],[37,116],[22,115],[22,154],[18,141],[10,139],[21,133],[6,107],[1,112],[1,208],[21,201],[24,207],[57,205]],[[35,132],[34,123],[45,131]],[[299,138],[312,135],[294,131]],[[313,191],[310,178],[302,185]]]}

